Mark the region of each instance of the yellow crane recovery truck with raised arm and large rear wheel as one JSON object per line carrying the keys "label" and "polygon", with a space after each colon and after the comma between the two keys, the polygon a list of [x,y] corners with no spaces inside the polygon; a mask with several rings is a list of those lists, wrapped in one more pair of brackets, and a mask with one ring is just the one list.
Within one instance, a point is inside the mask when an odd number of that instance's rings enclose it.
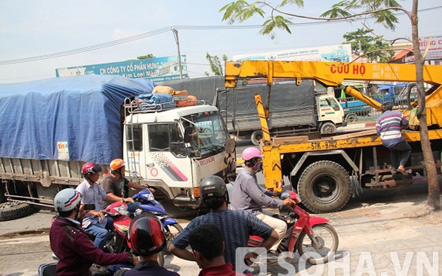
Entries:
{"label": "yellow crane recovery truck with raised arm and large rear wheel", "polygon": [[[426,91],[428,136],[431,141],[438,172],[441,171],[442,149],[442,66],[424,66],[425,83],[432,86]],[[241,79],[265,77],[271,88],[273,78],[315,79],[325,86],[339,87],[344,80],[401,81],[416,80],[415,66],[386,63],[332,63],[309,61],[242,61],[226,63],[227,88],[233,88]],[[271,89],[270,89],[271,90]],[[363,95],[352,87],[345,93],[380,109],[381,103]],[[398,188],[414,181],[426,180],[419,131],[406,130],[405,140],[412,146],[412,155],[405,166],[414,177],[392,175],[388,166],[390,152],[382,146],[376,130],[347,133],[329,137],[312,135],[270,138],[265,106],[260,95],[256,105],[263,132],[261,142],[265,184],[280,189],[282,177],[291,181],[298,190],[302,204],[315,213],[334,212],[343,208],[354,190],[360,188]],[[410,116],[412,103],[404,111]],[[416,103],[413,103],[413,107]]]}

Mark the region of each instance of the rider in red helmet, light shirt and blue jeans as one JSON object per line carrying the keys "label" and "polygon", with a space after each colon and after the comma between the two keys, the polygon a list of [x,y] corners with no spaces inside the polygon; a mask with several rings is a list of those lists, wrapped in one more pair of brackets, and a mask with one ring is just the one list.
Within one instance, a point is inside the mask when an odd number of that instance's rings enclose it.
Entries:
{"label": "rider in red helmet, light shirt and blue jeans", "polygon": [[[98,164],[85,163],[81,167],[84,181],[75,190],[81,194],[80,212],[84,212],[81,227],[86,233],[95,237],[94,244],[100,249],[104,248],[110,232],[113,231],[112,217],[104,217],[102,201],[114,202],[97,183],[102,167]],[[86,204],[94,204],[94,210],[84,210]]]}

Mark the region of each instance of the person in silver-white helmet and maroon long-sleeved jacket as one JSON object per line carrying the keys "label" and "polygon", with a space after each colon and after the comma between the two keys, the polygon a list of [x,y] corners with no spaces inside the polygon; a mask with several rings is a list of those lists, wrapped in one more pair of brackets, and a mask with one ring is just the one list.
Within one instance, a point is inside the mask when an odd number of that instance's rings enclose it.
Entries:
{"label": "person in silver-white helmet and maroon long-sleeved jacket", "polygon": [[50,249],[59,258],[57,275],[89,276],[92,264],[108,265],[124,262],[138,264],[132,253],[104,253],[97,248],[77,221],[81,194],[66,188],[55,195],[54,206],[58,215],[50,226]]}

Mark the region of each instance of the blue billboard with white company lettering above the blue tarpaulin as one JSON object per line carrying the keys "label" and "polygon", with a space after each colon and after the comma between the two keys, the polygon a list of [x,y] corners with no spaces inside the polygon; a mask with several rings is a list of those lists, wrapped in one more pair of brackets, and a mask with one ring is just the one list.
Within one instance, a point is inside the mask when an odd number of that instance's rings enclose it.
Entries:
{"label": "blue billboard with white company lettering above the blue tarpaulin", "polygon": [[[188,77],[186,55],[181,56],[182,77]],[[151,81],[172,81],[180,79],[178,57],[155,57],[86,66],[74,66],[55,70],[57,77],[73,75],[120,75]]]}

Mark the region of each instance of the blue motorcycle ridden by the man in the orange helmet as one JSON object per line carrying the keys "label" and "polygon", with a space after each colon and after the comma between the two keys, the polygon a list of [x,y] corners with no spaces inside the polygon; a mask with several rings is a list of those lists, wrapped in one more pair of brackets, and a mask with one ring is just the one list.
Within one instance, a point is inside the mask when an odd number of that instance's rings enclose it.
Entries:
{"label": "blue motorcycle ridden by the man in the orange helmet", "polygon": [[164,226],[164,233],[166,234],[166,247],[162,252],[160,252],[158,257],[158,263],[160,266],[163,266],[164,254],[169,253],[169,246],[171,245],[173,239],[181,233],[182,226],[178,224],[176,219],[169,217],[169,214],[164,209],[164,206],[162,206],[159,201],[155,200],[155,197],[150,190],[141,190],[132,198],[134,201],[141,203],[140,208],[135,211],[135,217],[137,215],[141,215],[142,213],[150,213],[155,215]]}

